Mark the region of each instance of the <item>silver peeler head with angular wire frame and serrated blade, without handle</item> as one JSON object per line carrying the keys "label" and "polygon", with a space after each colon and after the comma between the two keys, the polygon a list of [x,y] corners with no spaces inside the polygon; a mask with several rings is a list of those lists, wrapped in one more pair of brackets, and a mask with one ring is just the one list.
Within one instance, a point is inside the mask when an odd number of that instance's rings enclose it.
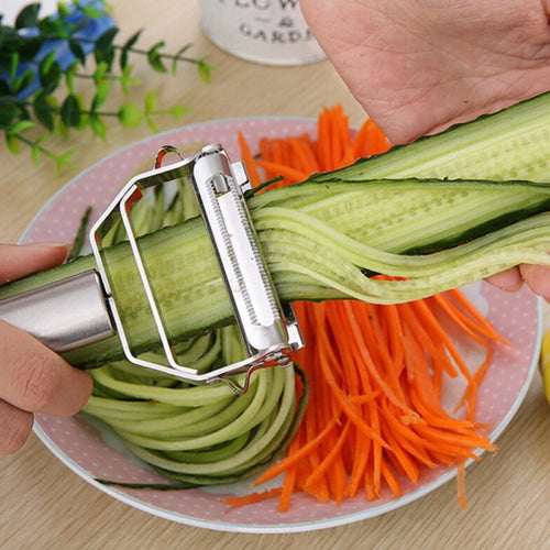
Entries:
{"label": "silver peeler head with angular wire frame and serrated blade, without handle", "polygon": [[[223,381],[235,393],[241,394],[246,392],[250,377],[255,370],[288,365],[289,354],[304,346],[304,340],[292,306],[282,307],[263,260],[244,200],[244,191],[251,188],[244,164],[231,163],[227,152],[218,144],[207,145],[189,157],[184,158],[179,155],[179,162],[161,166],[160,160],[166,153],[179,154],[172,146],[162,147],[157,153],[155,167],[133,177],[90,230],[90,245],[106,300],[129,361],[191,383],[208,384]],[[180,177],[189,178],[193,184],[248,353],[248,358],[243,361],[206,373],[179,364],[173,352],[130,217],[133,205],[141,199],[144,189]],[[154,363],[133,353],[112,296],[101,242],[117,219],[122,220],[128,234],[141,283],[163,344],[166,364]],[[242,385],[231,378],[235,374],[243,373],[245,376]]]}

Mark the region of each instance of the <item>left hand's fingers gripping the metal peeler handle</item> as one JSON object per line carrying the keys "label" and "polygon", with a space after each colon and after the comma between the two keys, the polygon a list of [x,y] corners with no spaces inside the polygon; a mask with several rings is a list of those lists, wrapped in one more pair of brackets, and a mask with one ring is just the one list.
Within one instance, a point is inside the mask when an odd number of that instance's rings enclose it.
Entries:
{"label": "left hand's fingers gripping the metal peeler handle", "polygon": [[[0,244],[0,284],[63,263],[63,244]],[[0,320],[0,455],[26,441],[33,413],[76,414],[91,394],[89,374],[68,365],[33,337]]]}

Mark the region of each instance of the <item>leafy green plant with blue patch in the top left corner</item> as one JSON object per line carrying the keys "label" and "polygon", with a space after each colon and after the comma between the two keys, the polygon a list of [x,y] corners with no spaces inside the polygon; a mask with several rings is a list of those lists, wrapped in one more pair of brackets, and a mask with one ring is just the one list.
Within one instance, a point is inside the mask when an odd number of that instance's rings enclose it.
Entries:
{"label": "leafy green plant with blue patch in the top left corner", "polygon": [[[35,164],[44,155],[58,169],[74,166],[69,162],[74,151],[57,155],[46,147],[52,135],[88,129],[106,141],[108,119],[127,128],[145,122],[156,132],[156,117],[177,119],[187,110],[182,105],[158,109],[155,90],[148,91],[142,106],[129,100],[108,108],[113,82],[124,96],[141,84],[132,75],[132,56],[141,56],[164,74],[175,75],[180,63],[193,64],[200,79],[210,82],[212,67],[207,59],[187,55],[191,44],[175,53],[167,53],[164,42],[140,48],[142,31],[117,44],[119,29],[105,0],[61,2],[57,13],[45,18],[40,18],[40,3],[26,6],[13,25],[3,24],[0,15],[0,130],[8,151],[18,154],[23,144]],[[85,88],[88,100],[81,94]]]}

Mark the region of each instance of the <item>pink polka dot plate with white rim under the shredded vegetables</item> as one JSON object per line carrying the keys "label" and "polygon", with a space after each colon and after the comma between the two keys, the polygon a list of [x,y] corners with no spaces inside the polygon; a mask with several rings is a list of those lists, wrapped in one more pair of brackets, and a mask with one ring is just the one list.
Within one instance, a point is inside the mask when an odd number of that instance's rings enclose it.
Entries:
{"label": "pink polka dot plate with white rim under the shredded vegetables", "polygon": [[[70,242],[86,207],[98,216],[118,190],[138,172],[152,166],[158,147],[173,144],[185,151],[206,143],[222,143],[233,160],[239,158],[237,132],[257,146],[261,136],[314,133],[316,122],[306,119],[246,118],[195,124],[154,135],[97,163],[65,186],[42,209],[28,228],[23,241]],[[480,388],[477,418],[490,426],[496,439],[510,422],[521,404],[536,371],[541,340],[541,304],[528,290],[505,294],[479,283],[464,288],[471,301],[495,326],[514,349],[497,349],[492,366]],[[477,364],[475,351],[463,350],[466,360]],[[462,388],[446,386],[444,398],[457,403]],[[38,416],[35,432],[69,469],[90,484],[135,508],[180,524],[215,530],[242,532],[293,532],[329,528],[367,519],[419,498],[452,480],[454,469],[426,469],[413,485],[403,482],[403,496],[384,496],[367,502],[362,495],[340,506],[320,504],[311,497],[296,495],[288,513],[277,512],[276,501],[228,508],[222,496],[244,495],[252,491],[253,480],[231,486],[185,491],[131,490],[106,486],[96,479],[162,483],[158,474],[134,460],[117,439],[92,426],[81,416],[57,419]]]}

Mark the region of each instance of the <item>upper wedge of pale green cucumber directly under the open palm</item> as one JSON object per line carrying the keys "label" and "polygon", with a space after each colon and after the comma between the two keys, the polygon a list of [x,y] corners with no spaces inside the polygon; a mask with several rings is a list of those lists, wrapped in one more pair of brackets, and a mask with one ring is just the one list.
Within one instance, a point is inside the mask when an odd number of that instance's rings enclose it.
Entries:
{"label": "upper wedge of pale green cucumber directly under the open palm", "polygon": [[549,182],[550,92],[420,138],[317,182],[432,177]]}

